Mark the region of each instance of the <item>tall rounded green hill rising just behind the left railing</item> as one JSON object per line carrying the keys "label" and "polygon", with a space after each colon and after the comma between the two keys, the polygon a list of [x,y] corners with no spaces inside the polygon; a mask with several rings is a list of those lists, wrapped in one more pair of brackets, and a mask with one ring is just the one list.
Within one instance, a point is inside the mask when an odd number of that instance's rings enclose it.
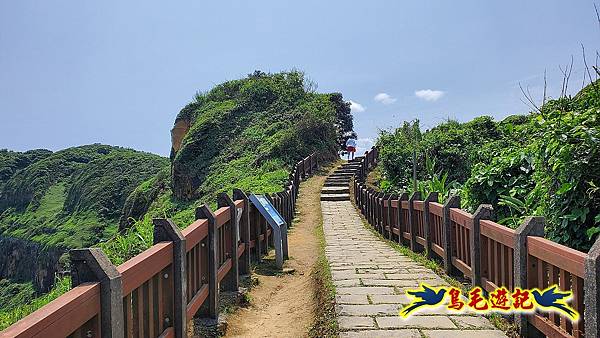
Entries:
{"label": "tall rounded green hill rising just behind the left railing", "polygon": [[170,217],[185,227],[194,220],[194,207],[214,206],[220,192],[281,191],[293,164],[313,152],[335,159],[351,131],[350,106],[341,94],[314,92],[300,72],[257,71],[217,85],[178,114],[172,170],[136,189],[122,227],[149,232],[141,229],[151,226],[151,217]]}

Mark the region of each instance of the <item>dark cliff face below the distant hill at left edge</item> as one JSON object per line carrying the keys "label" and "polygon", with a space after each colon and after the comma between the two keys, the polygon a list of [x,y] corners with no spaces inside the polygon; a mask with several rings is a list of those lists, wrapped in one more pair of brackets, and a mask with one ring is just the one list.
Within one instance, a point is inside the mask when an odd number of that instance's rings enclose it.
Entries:
{"label": "dark cliff face below the distant hill at left edge", "polygon": [[0,236],[0,276],[15,281],[31,281],[38,292],[47,292],[54,275],[61,271],[60,256],[64,249],[19,238]]}

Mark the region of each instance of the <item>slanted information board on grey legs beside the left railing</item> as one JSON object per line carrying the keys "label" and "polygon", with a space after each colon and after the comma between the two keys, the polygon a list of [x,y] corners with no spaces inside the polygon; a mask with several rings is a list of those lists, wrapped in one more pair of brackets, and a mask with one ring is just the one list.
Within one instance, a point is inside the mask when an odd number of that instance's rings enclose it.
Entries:
{"label": "slanted information board on grey legs beside the left railing", "polygon": [[275,262],[278,268],[283,268],[283,259],[288,257],[287,224],[277,209],[264,195],[250,195],[250,202],[267,220],[273,229],[273,243],[275,244]]}

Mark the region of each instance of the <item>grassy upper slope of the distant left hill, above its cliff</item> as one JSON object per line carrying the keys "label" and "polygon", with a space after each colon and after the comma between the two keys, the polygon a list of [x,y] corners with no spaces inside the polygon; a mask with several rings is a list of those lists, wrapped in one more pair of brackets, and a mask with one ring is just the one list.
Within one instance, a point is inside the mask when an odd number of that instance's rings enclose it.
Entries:
{"label": "grassy upper slope of the distant left hill, above its cliff", "polygon": [[16,171],[0,192],[0,235],[75,248],[114,235],[129,193],[168,166],[106,145],[68,148]]}

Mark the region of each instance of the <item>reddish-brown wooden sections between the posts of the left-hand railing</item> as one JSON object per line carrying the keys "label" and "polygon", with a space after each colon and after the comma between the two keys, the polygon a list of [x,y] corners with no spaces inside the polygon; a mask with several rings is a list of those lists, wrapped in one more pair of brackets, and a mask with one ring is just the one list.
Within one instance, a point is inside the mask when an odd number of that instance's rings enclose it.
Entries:
{"label": "reddish-brown wooden sections between the posts of the left-hand railing", "polygon": [[[300,181],[317,167],[316,155],[298,162],[290,174],[284,191],[268,195],[288,224],[294,215]],[[242,193],[243,195],[243,193]],[[243,195],[245,197],[245,195]],[[221,202],[220,202],[221,203]],[[238,212],[247,219],[237,222]],[[198,213],[197,213],[198,214]],[[211,273],[210,217],[214,217],[216,273]],[[161,241],[116,267],[120,274],[125,337],[183,337],[187,321],[207,306],[211,297],[218,297],[219,283],[232,277],[233,267],[240,262],[255,261],[272,246],[271,230],[258,210],[247,198],[233,201],[233,206],[221,206],[214,216],[199,217],[180,233],[185,240],[183,265],[185,294],[183,328],[176,329],[177,287],[175,285],[175,242]],[[239,240],[236,238],[239,227]],[[177,230],[178,231],[178,230]],[[155,238],[156,239],[156,238]],[[248,257],[244,257],[247,255]],[[239,269],[248,273],[249,266]],[[237,280],[237,275],[235,276]],[[216,285],[211,290],[211,281]],[[237,285],[237,284],[236,284]],[[0,332],[0,337],[105,337],[102,332],[101,282],[83,283]],[[180,288],[181,289],[181,288]],[[110,290],[115,291],[115,290]],[[113,304],[114,305],[114,304]],[[214,304],[212,305],[215,306]],[[217,304],[218,307],[218,304]],[[215,310],[215,309],[213,309]],[[204,314],[201,314],[204,315]],[[109,329],[112,328],[109,326]],[[183,332],[178,332],[178,330]],[[109,330],[107,330],[109,331]],[[121,335],[121,334],[118,334]]]}

